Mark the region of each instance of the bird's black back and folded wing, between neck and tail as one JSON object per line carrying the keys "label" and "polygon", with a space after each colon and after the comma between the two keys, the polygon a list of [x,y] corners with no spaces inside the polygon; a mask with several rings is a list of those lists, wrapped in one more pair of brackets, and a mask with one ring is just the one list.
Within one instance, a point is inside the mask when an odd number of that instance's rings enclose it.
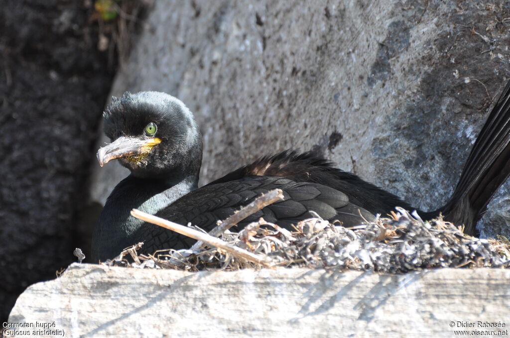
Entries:
{"label": "bird's black back and folded wing, between neck and tail", "polygon": [[[373,220],[374,214],[386,214],[395,206],[413,209],[360,177],[333,168],[331,162],[312,151],[286,150],[260,158],[192,191],[157,216],[180,224],[191,222],[210,231],[217,220],[224,220],[260,194],[277,188],[284,191],[284,200],[246,218],[238,224],[240,228],[264,217],[267,222],[292,229],[291,224],[313,217],[312,211],[329,221],[352,226]],[[151,224],[144,224],[134,236],[133,242],[145,242],[146,252],[187,248],[195,242]]]}

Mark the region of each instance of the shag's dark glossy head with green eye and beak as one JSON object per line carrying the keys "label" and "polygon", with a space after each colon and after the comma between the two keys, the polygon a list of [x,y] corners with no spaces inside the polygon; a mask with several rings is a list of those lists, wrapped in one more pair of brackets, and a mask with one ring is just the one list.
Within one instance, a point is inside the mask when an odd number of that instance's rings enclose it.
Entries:
{"label": "shag's dark glossy head with green eye and beak", "polygon": [[97,151],[101,167],[119,159],[136,177],[196,174],[198,179],[202,141],[193,114],[180,100],[161,92],[126,92],[112,99],[103,116],[112,143]]}

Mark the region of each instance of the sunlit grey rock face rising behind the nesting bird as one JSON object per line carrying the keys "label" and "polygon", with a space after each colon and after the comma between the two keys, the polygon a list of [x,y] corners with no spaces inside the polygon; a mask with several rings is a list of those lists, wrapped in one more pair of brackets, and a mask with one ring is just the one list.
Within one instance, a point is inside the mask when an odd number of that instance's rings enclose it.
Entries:
{"label": "sunlit grey rock face rising behind the nesting bird", "polygon": [[[156,2],[112,94],[182,99],[204,137],[203,183],[316,148],[433,209],[509,77],[509,15],[504,0]],[[116,166],[96,166],[94,201],[125,176]],[[510,234],[507,190],[483,235]]]}

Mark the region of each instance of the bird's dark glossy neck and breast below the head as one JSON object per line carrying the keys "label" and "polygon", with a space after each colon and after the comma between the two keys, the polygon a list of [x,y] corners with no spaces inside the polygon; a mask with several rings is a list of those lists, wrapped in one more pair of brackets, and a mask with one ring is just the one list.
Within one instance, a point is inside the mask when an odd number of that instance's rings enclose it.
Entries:
{"label": "bird's dark glossy neck and breast below the head", "polygon": [[[115,187],[94,228],[92,259],[105,261],[118,255],[125,240],[144,223],[132,209],[156,214],[163,207],[197,189],[198,177],[147,179],[127,176]],[[100,253],[100,254],[99,254]]]}

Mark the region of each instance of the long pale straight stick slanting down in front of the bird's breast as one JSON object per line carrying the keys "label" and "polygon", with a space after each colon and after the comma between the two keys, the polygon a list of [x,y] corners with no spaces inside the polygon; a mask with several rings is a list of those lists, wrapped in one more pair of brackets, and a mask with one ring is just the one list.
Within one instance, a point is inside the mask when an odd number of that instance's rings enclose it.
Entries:
{"label": "long pale straight stick slanting down in front of the bird's breast", "polygon": [[179,233],[181,233],[181,235],[188,236],[188,237],[193,238],[197,241],[202,241],[202,242],[205,242],[211,246],[215,246],[217,248],[223,249],[225,251],[230,252],[234,256],[241,257],[243,259],[246,259],[247,261],[260,264],[264,267],[271,266],[269,260],[265,256],[259,255],[259,254],[253,254],[253,253],[248,252],[244,249],[241,249],[237,246],[228,244],[216,237],[212,237],[211,235],[208,235],[207,233],[203,233],[203,232],[194,230],[190,227],[187,227],[187,226],[184,226],[181,224],[177,224],[177,223],[174,223],[171,221],[167,221],[163,218],[144,213],[137,209],[133,209],[131,211],[131,215],[133,217],[139,218],[145,222],[149,222],[152,224],[162,226],[166,229],[169,229],[169,230],[172,230],[175,232],[179,232]]}

